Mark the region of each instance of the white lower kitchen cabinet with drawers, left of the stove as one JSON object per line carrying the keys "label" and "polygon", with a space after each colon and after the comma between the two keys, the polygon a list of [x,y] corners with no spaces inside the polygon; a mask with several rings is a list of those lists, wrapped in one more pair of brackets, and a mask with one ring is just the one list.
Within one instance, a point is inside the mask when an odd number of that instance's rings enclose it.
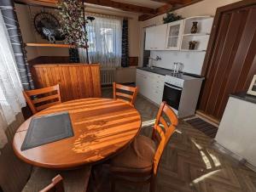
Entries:
{"label": "white lower kitchen cabinet with drawers, left of the stove", "polygon": [[136,84],[141,93],[155,104],[162,102],[165,76],[137,69]]}

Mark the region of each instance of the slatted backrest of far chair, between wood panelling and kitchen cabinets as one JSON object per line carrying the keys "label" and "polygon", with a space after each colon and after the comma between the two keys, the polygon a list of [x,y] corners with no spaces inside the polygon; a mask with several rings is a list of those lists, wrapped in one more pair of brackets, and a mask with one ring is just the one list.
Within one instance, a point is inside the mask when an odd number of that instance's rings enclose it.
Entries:
{"label": "slatted backrest of far chair, between wood panelling and kitchen cabinets", "polygon": [[[130,92],[132,94],[121,93],[121,92],[118,92],[117,89]],[[125,86],[125,85],[121,85],[113,82],[113,99],[117,99],[117,97],[126,98],[128,100],[125,100],[125,99],[123,100],[130,103],[131,105],[134,105],[135,99],[137,97],[137,87],[133,88],[133,87],[129,87],[129,86]]]}

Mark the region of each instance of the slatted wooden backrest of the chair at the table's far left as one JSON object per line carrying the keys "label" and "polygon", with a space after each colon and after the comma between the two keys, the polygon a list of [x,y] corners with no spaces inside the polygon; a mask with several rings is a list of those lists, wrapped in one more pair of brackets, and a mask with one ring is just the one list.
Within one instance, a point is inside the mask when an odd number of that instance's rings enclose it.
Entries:
{"label": "slatted wooden backrest of the chair at the table's far left", "polygon": [[[54,93],[56,92],[56,93]],[[48,88],[39,88],[30,91],[24,91],[23,95],[26,103],[36,114],[40,110],[44,110],[49,106],[61,103],[61,93],[59,84]],[[32,98],[33,97],[33,98]]]}

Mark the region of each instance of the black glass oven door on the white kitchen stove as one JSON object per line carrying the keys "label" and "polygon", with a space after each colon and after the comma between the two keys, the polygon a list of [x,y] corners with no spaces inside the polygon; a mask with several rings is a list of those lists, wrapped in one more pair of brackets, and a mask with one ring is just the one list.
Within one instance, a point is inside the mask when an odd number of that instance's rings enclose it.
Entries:
{"label": "black glass oven door on the white kitchen stove", "polygon": [[178,110],[183,88],[165,82],[163,101],[166,101],[173,109]]}

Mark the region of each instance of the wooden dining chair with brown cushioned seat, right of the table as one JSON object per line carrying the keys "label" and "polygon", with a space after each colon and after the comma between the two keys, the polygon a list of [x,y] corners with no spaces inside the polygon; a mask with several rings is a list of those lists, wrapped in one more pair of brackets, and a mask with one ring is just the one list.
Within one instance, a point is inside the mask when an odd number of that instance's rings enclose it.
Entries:
{"label": "wooden dining chair with brown cushioned seat, right of the table", "polygon": [[127,149],[110,161],[112,191],[115,183],[122,181],[130,184],[149,183],[150,192],[154,192],[160,158],[177,123],[177,116],[170,106],[166,102],[161,103],[152,138],[137,136]]}

